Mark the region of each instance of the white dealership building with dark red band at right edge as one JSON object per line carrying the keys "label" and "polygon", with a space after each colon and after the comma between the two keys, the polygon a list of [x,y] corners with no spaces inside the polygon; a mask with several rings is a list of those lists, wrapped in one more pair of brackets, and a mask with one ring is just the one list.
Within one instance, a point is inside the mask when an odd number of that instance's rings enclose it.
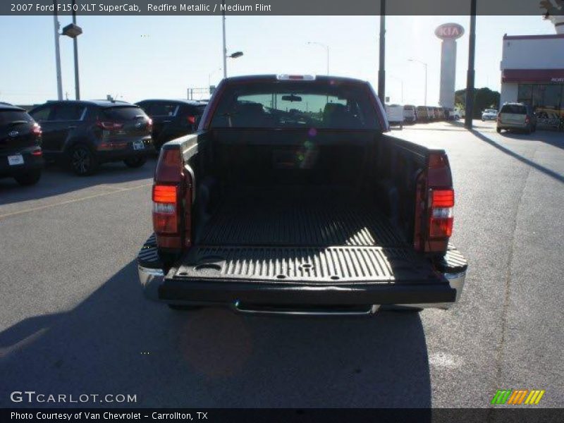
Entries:
{"label": "white dealership building with dark red band at right edge", "polygon": [[500,106],[505,102],[531,104],[539,128],[558,126],[564,116],[564,34],[503,36]]}

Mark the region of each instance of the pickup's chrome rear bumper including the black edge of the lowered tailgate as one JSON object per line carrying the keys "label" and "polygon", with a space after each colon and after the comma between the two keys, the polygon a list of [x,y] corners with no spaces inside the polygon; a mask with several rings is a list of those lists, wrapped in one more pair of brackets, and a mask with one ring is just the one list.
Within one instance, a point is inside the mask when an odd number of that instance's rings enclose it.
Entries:
{"label": "pickup's chrome rear bumper including the black edge of the lowered tailgate", "polygon": [[[221,278],[186,280],[165,277],[157,249],[154,247],[154,238],[149,238],[137,256],[137,269],[145,297],[171,305],[220,305],[231,307],[238,312],[264,310],[268,307],[309,308],[318,311],[365,307],[369,313],[374,312],[381,305],[448,309],[458,302],[464,288],[467,264],[454,247],[449,247],[446,257],[448,258],[437,264],[443,275],[443,283],[412,281],[411,283],[348,283],[331,286],[292,282],[233,281],[233,279]],[[331,314],[338,313],[331,312]]]}

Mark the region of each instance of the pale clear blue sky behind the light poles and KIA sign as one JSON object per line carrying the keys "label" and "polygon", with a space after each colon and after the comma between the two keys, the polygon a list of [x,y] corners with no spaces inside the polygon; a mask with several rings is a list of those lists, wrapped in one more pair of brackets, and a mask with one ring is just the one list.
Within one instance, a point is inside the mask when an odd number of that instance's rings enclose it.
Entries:
{"label": "pale clear blue sky behind the light poles and KIA sign", "polygon": [[[61,27],[70,16],[59,16]],[[386,17],[386,96],[393,103],[438,104],[442,23],[460,23],[456,89],[466,85],[468,16]],[[186,98],[187,90],[216,85],[223,76],[220,16],[78,16],[82,99]],[[478,16],[476,87],[500,89],[504,34],[554,33],[541,16]],[[379,16],[227,16],[228,75],[326,73],[368,80],[377,87]],[[52,16],[0,16],[0,101],[39,104],[56,99]],[[73,99],[73,42],[60,38],[63,97]],[[402,97],[403,85],[403,97]],[[207,95],[205,96],[207,97]]]}

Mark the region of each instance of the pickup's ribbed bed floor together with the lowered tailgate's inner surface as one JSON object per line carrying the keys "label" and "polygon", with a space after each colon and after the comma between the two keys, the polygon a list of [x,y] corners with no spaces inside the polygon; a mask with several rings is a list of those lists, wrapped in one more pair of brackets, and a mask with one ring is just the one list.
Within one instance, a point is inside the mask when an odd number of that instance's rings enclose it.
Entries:
{"label": "pickup's ribbed bed floor together with the lowered tailgate's inner surface", "polygon": [[440,282],[376,204],[358,193],[334,187],[235,192],[216,207],[175,277],[331,286]]}

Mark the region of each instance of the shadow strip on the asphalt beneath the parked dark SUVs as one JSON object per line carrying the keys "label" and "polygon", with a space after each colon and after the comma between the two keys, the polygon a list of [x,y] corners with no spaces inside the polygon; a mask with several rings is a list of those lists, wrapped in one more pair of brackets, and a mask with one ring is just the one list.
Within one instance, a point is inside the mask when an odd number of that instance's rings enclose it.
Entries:
{"label": "shadow strip on the asphalt beneath the parked dark SUVs", "polygon": [[[71,171],[47,164],[37,185],[21,187],[13,178],[0,179],[0,204],[13,204],[28,200],[62,195],[68,192],[93,188],[97,185],[113,185],[152,178],[157,160],[149,157],[140,168],[128,168],[123,163],[103,164],[99,171],[86,177],[76,176]],[[91,192],[90,192],[91,193]]]}

